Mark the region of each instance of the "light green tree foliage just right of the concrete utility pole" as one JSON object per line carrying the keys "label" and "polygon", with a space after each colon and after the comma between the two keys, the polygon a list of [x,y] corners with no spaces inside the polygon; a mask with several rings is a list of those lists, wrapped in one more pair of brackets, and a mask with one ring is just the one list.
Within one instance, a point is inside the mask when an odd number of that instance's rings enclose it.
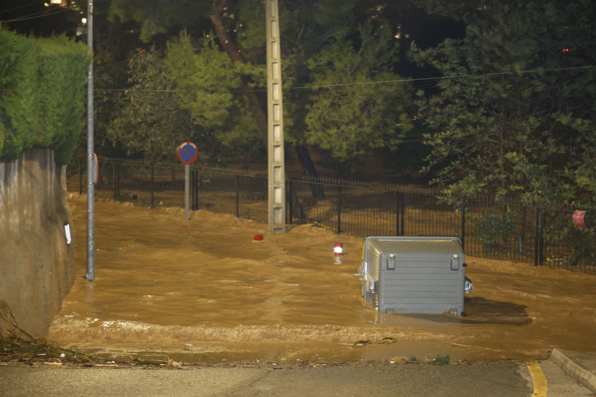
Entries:
{"label": "light green tree foliage just right of the concrete utility pole", "polygon": [[309,80],[318,88],[309,93],[302,139],[339,161],[373,148],[395,149],[412,129],[410,85],[374,84],[401,79],[392,70],[398,46],[390,29],[375,33],[366,24],[358,33],[358,48],[337,40],[306,62]]}

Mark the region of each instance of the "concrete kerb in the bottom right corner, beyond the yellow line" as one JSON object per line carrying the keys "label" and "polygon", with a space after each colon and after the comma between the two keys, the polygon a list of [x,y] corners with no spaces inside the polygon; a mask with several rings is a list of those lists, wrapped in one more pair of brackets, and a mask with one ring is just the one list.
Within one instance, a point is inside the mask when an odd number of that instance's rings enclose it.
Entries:
{"label": "concrete kerb in the bottom right corner, beyond the yellow line", "polygon": [[596,393],[596,352],[554,349],[551,360],[567,375]]}

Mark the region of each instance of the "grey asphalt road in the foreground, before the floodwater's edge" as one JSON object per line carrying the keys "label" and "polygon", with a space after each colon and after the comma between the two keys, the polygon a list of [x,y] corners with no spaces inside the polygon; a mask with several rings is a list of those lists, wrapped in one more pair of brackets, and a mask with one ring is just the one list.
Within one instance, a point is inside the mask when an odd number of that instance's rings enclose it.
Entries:
{"label": "grey asphalt road in the foreground, before the floodwater's edge", "polygon": [[[550,361],[548,397],[593,396]],[[0,396],[375,396],[529,397],[523,362],[374,365],[308,369],[0,367]],[[544,396],[546,397],[546,396]]]}

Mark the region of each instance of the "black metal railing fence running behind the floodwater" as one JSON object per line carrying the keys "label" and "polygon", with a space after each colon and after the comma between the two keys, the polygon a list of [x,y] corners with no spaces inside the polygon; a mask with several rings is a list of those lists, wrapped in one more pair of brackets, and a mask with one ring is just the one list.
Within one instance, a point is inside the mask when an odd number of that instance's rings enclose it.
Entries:
{"label": "black metal railing fence running behind the floodwater", "polygon": [[[70,191],[86,190],[86,162],[69,167]],[[100,161],[95,195],[151,207],[184,207],[184,167]],[[576,230],[576,208],[545,208],[490,196],[447,204],[440,192],[328,178],[286,179],[286,223],[353,236],[459,236],[476,257],[596,273],[594,235]],[[267,221],[267,177],[191,167],[190,208]],[[596,221],[593,208],[586,223]]]}

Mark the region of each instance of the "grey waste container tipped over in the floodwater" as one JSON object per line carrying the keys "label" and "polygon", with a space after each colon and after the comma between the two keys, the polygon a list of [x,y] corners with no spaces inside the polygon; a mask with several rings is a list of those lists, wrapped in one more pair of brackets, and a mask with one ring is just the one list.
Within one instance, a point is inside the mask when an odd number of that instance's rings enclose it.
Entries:
{"label": "grey waste container tipped over in the floodwater", "polygon": [[362,296],[381,313],[451,312],[464,316],[464,250],[458,237],[369,236],[364,240]]}

